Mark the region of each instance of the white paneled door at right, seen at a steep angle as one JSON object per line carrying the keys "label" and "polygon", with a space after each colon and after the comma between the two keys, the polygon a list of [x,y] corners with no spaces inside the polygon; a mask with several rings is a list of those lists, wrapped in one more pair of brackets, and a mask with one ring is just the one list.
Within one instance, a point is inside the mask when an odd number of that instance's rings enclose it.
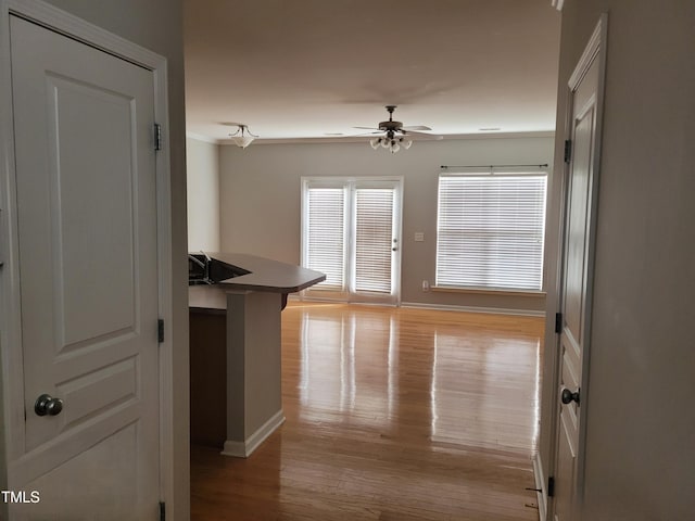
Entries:
{"label": "white paneled door at right, seen at a steep angle", "polygon": [[570,81],[571,155],[565,209],[561,263],[561,328],[558,351],[558,422],[555,468],[556,521],[577,519],[581,493],[581,422],[591,322],[593,215],[598,128],[599,59],[585,54]]}

